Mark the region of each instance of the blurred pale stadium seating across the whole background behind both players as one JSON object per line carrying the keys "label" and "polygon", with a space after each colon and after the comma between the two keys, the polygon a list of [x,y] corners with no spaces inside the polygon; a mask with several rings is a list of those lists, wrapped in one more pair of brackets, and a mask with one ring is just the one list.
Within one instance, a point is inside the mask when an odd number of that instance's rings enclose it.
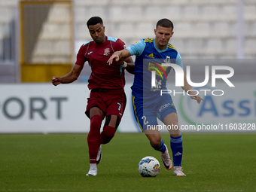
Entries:
{"label": "blurred pale stadium seating across the whole background behind both players", "polygon": [[[157,20],[167,17],[175,25],[170,43],[182,58],[237,57],[238,31],[242,30],[244,58],[255,58],[256,2],[244,0],[242,29],[237,26],[236,0],[74,0],[74,53],[81,42],[90,41],[87,20],[99,16],[105,22],[106,35],[121,38],[126,45],[140,38],[154,37]],[[18,44],[19,35],[11,36],[13,25],[18,32],[18,0],[0,0],[0,82],[17,82],[19,54],[7,53],[7,39]],[[50,9],[47,20],[32,50],[32,62],[65,62],[69,59],[70,31],[66,20],[73,20],[65,5]],[[58,41],[58,43],[56,43]],[[11,47],[11,44],[9,45]],[[12,50],[18,50],[11,47]],[[7,54],[15,53],[7,58]],[[47,58],[44,56],[47,55]],[[74,58],[75,60],[75,58]],[[14,67],[15,66],[15,67]],[[14,70],[14,72],[11,72]],[[88,71],[88,70],[84,70]],[[11,76],[10,76],[11,75]],[[12,76],[13,75],[13,76]],[[87,74],[85,74],[87,75]]]}

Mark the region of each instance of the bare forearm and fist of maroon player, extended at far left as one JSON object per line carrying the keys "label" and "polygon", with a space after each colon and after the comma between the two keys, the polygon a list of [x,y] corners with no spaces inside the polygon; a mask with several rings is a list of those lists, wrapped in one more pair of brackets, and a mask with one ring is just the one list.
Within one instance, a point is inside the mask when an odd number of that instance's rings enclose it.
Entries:
{"label": "bare forearm and fist of maroon player, extended at far left", "polygon": [[66,74],[65,76],[63,77],[53,77],[51,79],[52,81],[52,84],[54,86],[58,85],[58,84],[69,84],[69,83],[72,83],[73,81],[77,80],[82,69],[83,69],[84,66],[78,66],[78,65],[75,65],[72,69],[71,72],[69,72],[68,74]]}

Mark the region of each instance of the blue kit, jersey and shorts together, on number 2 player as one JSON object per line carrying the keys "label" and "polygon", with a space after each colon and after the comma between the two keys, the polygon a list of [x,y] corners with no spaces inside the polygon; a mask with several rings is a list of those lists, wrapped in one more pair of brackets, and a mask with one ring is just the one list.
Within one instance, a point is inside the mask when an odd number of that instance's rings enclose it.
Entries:
{"label": "blue kit, jersey and shorts together, on number 2 player", "polygon": [[[154,38],[145,38],[126,48],[136,55],[134,82],[132,86],[133,108],[137,123],[142,130],[148,125],[157,125],[157,118],[163,121],[167,114],[176,112],[169,94],[160,96],[160,90],[166,90],[166,81],[172,67],[162,63],[175,63],[183,69],[181,56],[171,44],[159,50]],[[156,84],[152,85],[152,71],[155,71]]]}

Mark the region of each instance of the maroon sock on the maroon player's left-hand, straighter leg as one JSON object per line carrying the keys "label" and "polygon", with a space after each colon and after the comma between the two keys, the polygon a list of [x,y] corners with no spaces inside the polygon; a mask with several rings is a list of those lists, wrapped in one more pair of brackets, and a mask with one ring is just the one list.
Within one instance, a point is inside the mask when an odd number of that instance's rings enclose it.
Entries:
{"label": "maroon sock on the maroon player's left-hand, straighter leg", "polygon": [[87,136],[89,147],[90,163],[96,163],[96,158],[101,143],[100,126],[102,125],[102,117],[99,114],[90,118],[90,132]]}

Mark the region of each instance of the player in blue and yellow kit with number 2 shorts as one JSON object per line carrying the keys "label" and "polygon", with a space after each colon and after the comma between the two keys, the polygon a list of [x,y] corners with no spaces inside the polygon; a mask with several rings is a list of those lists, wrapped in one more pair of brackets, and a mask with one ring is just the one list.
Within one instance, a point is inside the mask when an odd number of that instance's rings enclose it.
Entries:
{"label": "player in blue and yellow kit with number 2 shorts", "polygon": [[[113,60],[118,61],[127,56],[136,55],[132,95],[137,123],[148,137],[151,146],[161,152],[163,166],[168,170],[172,169],[172,160],[169,157],[167,146],[161,139],[157,118],[166,127],[172,128],[168,130],[172,149],[173,172],[174,175],[184,176],[185,174],[181,169],[183,147],[182,136],[178,127],[178,115],[172,97],[169,94],[160,94],[160,90],[167,90],[167,75],[172,69],[170,66],[162,66],[161,63],[175,63],[183,69],[180,54],[175,47],[169,44],[169,39],[173,33],[172,21],[159,20],[156,29],[154,29],[155,38],[142,39],[124,50],[113,53],[108,59],[108,63],[111,65]],[[155,71],[155,84],[152,84],[152,71]],[[184,75],[182,89],[190,94],[191,99],[196,99],[198,103],[203,100],[200,95],[194,93],[192,87],[187,83],[186,75]]]}

